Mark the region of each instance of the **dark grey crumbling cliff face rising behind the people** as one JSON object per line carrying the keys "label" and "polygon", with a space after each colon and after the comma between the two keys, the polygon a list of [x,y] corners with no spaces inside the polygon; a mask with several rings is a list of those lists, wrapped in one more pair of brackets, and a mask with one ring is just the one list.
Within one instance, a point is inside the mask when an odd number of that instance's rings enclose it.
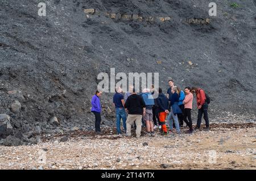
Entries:
{"label": "dark grey crumbling cliff face rising behind the people", "polygon": [[[215,1],[215,17],[208,15],[211,1],[203,0],[49,0],[46,16],[38,16],[39,2],[0,2],[0,113],[10,116],[15,132],[45,131],[54,116],[54,128],[92,125],[97,75],[110,68],[159,72],[164,91],[171,77],[182,88],[207,90],[217,112],[255,113],[255,1],[236,1],[239,8]],[[86,16],[84,9],[96,13]],[[112,19],[106,12],[155,20]],[[190,18],[210,23],[189,24]],[[112,94],[102,95],[105,124],[114,119],[111,103]]]}

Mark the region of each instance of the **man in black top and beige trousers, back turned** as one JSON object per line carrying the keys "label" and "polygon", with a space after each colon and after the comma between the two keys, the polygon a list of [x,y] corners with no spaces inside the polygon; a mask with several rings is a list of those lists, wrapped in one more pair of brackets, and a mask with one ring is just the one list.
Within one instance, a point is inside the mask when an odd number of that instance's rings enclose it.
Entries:
{"label": "man in black top and beige trousers, back turned", "polygon": [[142,115],[146,113],[146,104],[141,96],[137,95],[135,89],[133,93],[127,98],[125,108],[128,110],[128,117],[126,120],[126,136],[131,136],[131,125],[136,124],[136,137],[141,137]]}

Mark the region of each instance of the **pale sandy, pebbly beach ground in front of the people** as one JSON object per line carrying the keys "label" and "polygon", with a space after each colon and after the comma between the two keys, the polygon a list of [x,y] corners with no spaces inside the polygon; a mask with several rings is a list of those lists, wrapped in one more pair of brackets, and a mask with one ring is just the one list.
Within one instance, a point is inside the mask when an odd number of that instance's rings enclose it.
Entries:
{"label": "pale sandy, pebbly beach ground in front of the people", "polygon": [[[126,138],[105,129],[44,135],[37,145],[0,146],[0,169],[256,169],[256,125],[212,124],[193,134]],[[67,142],[60,138],[68,136]],[[143,146],[143,143],[148,145]],[[161,167],[161,165],[164,164]]]}

